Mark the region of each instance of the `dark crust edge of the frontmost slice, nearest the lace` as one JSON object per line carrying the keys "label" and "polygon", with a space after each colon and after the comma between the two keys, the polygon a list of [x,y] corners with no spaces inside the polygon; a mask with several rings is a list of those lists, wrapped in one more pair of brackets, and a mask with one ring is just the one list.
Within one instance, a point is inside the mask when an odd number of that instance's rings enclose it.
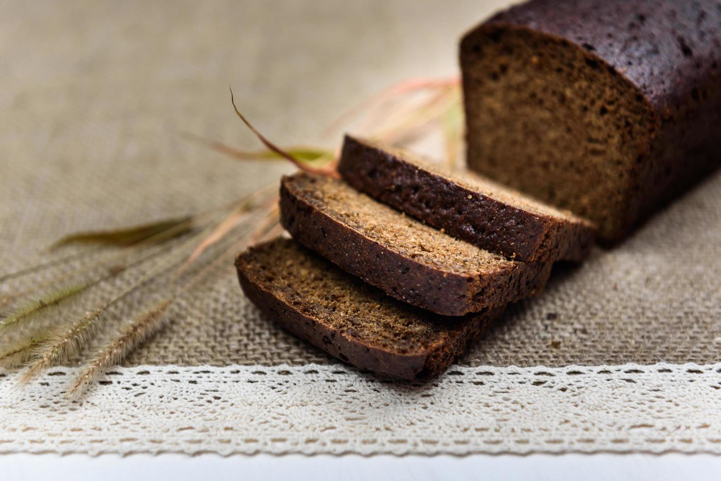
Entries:
{"label": "dark crust edge of the frontmost slice, nearest the lace", "polygon": [[[469,344],[485,332],[487,327],[503,315],[505,307],[485,310],[483,313],[454,320],[445,342],[436,343],[423,354],[403,355],[363,343],[348,333],[325,325],[322,319],[305,315],[298,307],[288,305],[267,286],[262,286],[247,269],[241,254],[236,259],[238,279],[248,299],[286,331],[326,351],[331,356],[353,364],[360,369],[395,379],[429,379],[448,369],[448,366],[466,351]],[[395,301],[394,301],[395,302]],[[412,308],[412,307],[410,307]],[[442,318],[439,318],[442,322]],[[462,323],[459,328],[459,323]]]}

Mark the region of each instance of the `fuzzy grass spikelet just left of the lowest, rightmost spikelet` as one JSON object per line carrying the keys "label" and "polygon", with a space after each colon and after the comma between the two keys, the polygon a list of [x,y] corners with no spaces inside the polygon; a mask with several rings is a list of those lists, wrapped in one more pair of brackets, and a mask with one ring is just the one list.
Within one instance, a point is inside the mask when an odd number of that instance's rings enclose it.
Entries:
{"label": "fuzzy grass spikelet just left of the lowest, rightmost spikelet", "polygon": [[45,369],[66,361],[82,349],[97,331],[97,325],[105,314],[105,307],[89,311],[79,318],[73,318],[48,333],[48,337],[32,349],[34,359],[20,377],[27,385],[36,379]]}

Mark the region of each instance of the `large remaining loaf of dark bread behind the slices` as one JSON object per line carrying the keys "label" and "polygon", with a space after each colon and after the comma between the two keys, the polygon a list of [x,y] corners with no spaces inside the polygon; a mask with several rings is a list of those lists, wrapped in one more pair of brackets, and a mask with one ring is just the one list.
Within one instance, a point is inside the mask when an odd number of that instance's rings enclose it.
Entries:
{"label": "large remaining loaf of dark bread behind the slices", "polygon": [[720,163],[718,0],[534,0],[460,56],[469,167],[603,240]]}

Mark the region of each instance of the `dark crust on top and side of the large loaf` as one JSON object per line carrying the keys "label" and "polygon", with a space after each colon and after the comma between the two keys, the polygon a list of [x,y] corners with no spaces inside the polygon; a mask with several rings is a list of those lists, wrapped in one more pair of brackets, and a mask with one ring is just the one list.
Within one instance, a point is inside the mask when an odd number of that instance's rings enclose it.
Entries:
{"label": "dark crust on top and side of the large loaf", "polygon": [[[474,42],[505,29],[526,29],[574,45],[620,83],[632,86],[638,101],[648,107],[652,129],[639,139],[634,184],[625,193],[624,212],[618,214],[621,227],[603,233],[604,243],[624,238],[719,166],[721,4],[717,0],[529,1],[466,34],[461,67],[464,57],[472,55]],[[468,85],[464,82],[464,89]],[[469,166],[482,165],[481,158],[469,137]]]}

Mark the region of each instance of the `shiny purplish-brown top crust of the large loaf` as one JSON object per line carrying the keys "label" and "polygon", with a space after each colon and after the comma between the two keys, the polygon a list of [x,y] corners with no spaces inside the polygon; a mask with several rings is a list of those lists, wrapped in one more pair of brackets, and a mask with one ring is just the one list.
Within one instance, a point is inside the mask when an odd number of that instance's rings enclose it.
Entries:
{"label": "shiny purplish-brown top crust of the large loaf", "polygon": [[575,42],[632,81],[657,109],[721,74],[718,0],[534,0],[489,22]]}

